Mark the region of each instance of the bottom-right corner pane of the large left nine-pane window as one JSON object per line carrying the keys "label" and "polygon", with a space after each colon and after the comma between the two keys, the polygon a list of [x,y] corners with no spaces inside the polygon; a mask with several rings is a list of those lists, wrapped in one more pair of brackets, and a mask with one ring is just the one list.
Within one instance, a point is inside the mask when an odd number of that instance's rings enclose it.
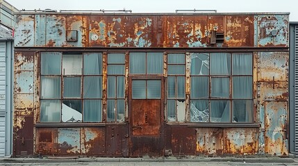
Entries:
{"label": "bottom-right corner pane of the large left nine-pane window", "polygon": [[84,122],[101,122],[101,100],[84,100]]}

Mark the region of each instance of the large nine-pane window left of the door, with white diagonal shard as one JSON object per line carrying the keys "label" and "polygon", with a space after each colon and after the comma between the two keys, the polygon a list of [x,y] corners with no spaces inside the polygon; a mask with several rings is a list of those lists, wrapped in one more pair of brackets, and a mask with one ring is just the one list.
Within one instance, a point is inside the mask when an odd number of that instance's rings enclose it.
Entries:
{"label": "large nine-pane window left of the door, with white diagonal shard", "polygon": [[101,122],[102,54],[41,53],[40,122]]}

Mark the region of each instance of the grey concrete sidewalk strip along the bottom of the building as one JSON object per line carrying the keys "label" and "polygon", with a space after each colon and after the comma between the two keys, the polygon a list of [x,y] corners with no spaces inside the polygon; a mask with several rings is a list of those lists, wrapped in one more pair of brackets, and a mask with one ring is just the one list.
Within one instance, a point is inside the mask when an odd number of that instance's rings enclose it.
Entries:
{"label": "grey concrete sidewalk strip along the bottom of the building", "polygon": [[0,158],[0,163],[138,163],[138,162],[235,162],[235,163],[298,163],[298,158],[279,157],[194,157],[194,158],[75,158],[75,157],[42,157],[42,158]]}

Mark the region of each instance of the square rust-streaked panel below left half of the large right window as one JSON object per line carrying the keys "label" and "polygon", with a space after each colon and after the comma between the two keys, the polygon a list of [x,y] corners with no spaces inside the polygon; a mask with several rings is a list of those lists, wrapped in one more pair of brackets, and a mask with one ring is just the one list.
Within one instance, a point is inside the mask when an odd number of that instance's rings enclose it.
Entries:
{"label": "square rust-streaked panel below left half of the large right window", "polygon": [[197,154],[222,155],[224,151],[223,129],[220,128],[198,128],[197,132]]}

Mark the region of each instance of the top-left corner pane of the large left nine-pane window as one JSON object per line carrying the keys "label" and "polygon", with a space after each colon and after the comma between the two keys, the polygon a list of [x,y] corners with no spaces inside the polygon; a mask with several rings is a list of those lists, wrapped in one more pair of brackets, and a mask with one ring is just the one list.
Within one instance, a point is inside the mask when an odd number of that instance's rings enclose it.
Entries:
{"label": "top-left corner pane of the large left nine-pane window", "polygon": [[61,53],[41,53],[41,73],[42,75],[61,74]]}

